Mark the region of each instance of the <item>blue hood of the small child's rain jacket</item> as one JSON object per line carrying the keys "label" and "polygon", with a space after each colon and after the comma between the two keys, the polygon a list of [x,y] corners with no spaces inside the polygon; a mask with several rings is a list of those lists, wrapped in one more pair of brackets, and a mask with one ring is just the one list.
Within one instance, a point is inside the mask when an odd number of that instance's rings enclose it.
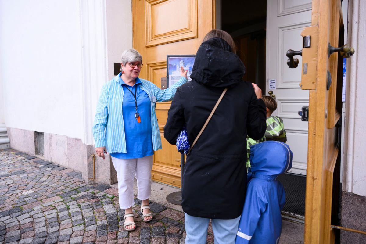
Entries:
{"label": "blue hood of the small child's rain jacket", "polygon": [[290,147],[277,141],[265,141],[250,147],[250,166],[253,177],[275,180],[279,174],[292,168]]}

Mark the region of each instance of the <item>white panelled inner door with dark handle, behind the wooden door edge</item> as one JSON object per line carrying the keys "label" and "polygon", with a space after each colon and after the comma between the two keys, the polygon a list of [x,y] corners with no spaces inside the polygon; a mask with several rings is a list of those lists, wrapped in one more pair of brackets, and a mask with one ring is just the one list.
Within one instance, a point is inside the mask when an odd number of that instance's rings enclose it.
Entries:
{"label": "white panelled inner door with dark handle, behind the wooden door edge", "polygon": [[[301,90],[301,56],[297,68],[287,66],[286,52],[302,49],[303,28],[311,25],[311,0],[267,0],[266,94],[276,95],[273,115],[283,119],[287,144],[294,153],[290,173],[306,175],[308,122],[301,121],[298,111],[309,105],[309,91]],[[276,89],[269,89],[269,79]]]}

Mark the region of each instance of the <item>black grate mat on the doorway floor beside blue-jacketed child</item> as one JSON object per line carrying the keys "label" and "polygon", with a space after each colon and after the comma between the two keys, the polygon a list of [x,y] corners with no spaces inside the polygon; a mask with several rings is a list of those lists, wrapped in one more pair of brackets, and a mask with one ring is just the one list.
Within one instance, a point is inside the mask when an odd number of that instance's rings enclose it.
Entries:
{"label": "black grate mat on the doorway floor beside blue-jacketed child", "polygon": [[306,176],[285,173],[277,179],[285,188],[286,203],[283,211],[305,216]]}

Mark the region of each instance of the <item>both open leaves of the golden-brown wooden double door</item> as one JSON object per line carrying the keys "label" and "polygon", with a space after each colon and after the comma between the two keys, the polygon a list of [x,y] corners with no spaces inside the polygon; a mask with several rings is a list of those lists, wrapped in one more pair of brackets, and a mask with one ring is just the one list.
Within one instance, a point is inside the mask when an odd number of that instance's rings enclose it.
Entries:
{"label": "both open leaves of the golden-brown wooden double door", "polygon": [[[296,13],[299,10],[293,6],[294,2],[303,5],[304,1],[269,2],[277,3],[273,6],[278,8],[278,17],[281,6],[284,11],[292,6],[291,11]],[[339,191],[333,188],[336,181],[339,182],[333,175],[339,167],[337,121],[340,118],[342,57],[329,50],[330,46],[343,45],[344,28],[340,0],[313,0],[311,7],[308,5],[311,22],[303,23],[303,27],[309,27],[301,34],[306,39],[294,44],[294,49],[303,48],[297,69],[301,70],[301,90],[309,92],[304,240],[309,244],[323,244],[334,243],[336,239],[330,224],[336,221],[336,211],[332,211],[337,210],[337,198],[333,194]],[[214,0],[132,0],[133,45],[142,54],[144,63],[140,76],[160,87],[161,78],[166,76],[166,55],[195,54],[206,33],[215,28],[214,13]],[[282,62],[284,55],[281,55]],[[156,107],[163,150],[154,155],[152,177],[180,186],[180,154],[163,136],[170,105],[165,102]]]}

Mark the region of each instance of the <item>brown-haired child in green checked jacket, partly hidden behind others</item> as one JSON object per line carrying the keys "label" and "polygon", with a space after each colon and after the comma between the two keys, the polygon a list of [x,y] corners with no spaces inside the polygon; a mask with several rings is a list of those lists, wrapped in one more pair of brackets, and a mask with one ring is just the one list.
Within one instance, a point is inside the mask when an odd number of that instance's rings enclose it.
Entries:
{"label": "brown-haired child in green checked jacket, partly hidden behind others", "polygon": [[276,100],[270,96],[263,96],[262,100],[264,101],[267,109],[267,128],[263,138],[260,140],[253,140],[247,136],[247,169],[250,168],[250,146],[266,140],[278,140],[284,143],[287,141],[286,131],[283,127],[283,120],[279,116],[271,116],[272,113],[277,109]]}

